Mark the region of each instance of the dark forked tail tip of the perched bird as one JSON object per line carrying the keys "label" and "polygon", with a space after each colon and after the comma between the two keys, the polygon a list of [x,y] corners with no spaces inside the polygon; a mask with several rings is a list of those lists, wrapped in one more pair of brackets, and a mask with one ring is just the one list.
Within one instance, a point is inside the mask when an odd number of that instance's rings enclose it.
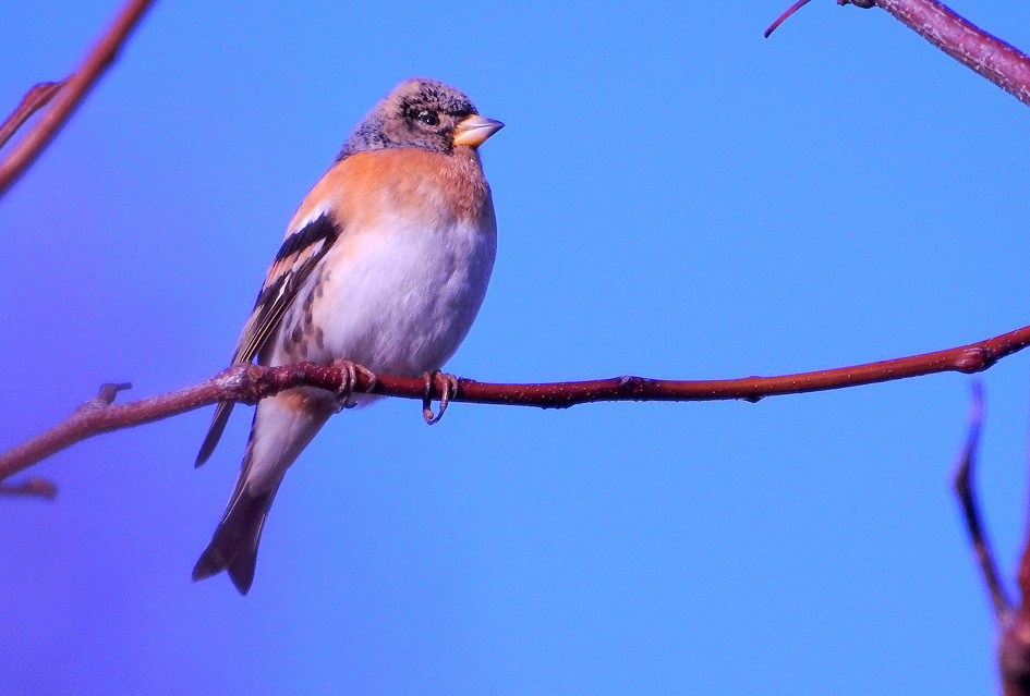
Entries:
{"label": "dark forked tail tip of the perched bird", "polygon": [[241,595],[246,595],[254,582],[257,564],[257,545],[262,538],[265,517],[276,497],[275,486],[257,496],[241,485],[226,510],[211,542],[193,567],[193,579],[202,581],[222,571],[229,571],[232,584]]}

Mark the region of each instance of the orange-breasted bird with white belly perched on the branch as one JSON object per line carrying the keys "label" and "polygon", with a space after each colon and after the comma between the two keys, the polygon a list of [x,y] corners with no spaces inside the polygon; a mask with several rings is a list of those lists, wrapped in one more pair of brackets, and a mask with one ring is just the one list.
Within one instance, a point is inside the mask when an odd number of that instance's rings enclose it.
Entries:
{"label": "orange-breasted bird with white belly perched on the branch", "polygon": [[[358,122],[294,213],[232,363],[349,361],[401,377],[439,370],[469,332],[493,270],[497,222],[478,147],[502,126],[445,83],[397,85]],[[227,571],[246,595],[287,469],[329,416],[374,400],[314,388],[262,400],[193,579]],[[217,406],[196,466],[231,411],[231,402]]]}

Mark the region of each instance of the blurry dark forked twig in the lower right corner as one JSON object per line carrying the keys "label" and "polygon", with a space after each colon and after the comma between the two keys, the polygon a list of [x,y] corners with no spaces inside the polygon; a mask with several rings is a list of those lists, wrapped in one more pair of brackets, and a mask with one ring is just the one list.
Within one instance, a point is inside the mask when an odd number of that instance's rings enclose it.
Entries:
{"label": "blurry dark forked twig in the lower right corner", "polygon": [[994,605],[994,616],[998,627],[998,671],[1002,677],[1002,693],[1005,696],[1030,696],[1030,538],[1023,550],[1019,566],[1020,602],[1016,607],[1008,598],[991,541],[983,529],[980,517],[977,489],[973,484],[977,449],[983,419],[983,403],[980,384],[973,384],[970,406],[969,435],[959,456],[958,471],[955,474],[955,493],[962,508],[969,540],[983,574],[987,595]]}

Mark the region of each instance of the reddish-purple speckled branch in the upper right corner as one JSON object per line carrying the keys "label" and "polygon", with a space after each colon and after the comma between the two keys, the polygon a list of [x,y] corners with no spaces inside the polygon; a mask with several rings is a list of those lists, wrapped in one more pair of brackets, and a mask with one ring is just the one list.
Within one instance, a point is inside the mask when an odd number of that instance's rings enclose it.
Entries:
{"label": "reddish-purple speckled branch in the upper right corner", "polygon": [[[765,32],[809,0],[801,0]],[[837,0],[837,4],[881,8],[942,51],[1030,106],[1030,57],[962,19],[936,0]]]}

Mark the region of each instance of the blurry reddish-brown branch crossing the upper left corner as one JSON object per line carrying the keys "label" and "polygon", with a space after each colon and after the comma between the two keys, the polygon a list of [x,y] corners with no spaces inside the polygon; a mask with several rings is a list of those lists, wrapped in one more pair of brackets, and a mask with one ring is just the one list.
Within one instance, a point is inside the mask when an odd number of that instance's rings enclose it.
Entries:
{"label": "blurry reddish-brown branch crossing the upper left corner", "polygon": [[[2,196],[4,192],[11,187],[11,184],[33,163],[36,157],[39,156],[39,152],[43,151],[60,127],[68,121],[75,108],[85,98],[86,94],[97,83],[100,75],[104,74],[104,71],[107,70],[118,57],[118,52],[121,50],[129,34],[136,24],[138,24],[143,14],[150,4],[153,4],[153,1],[154,0],[130,0],[114,20],[111,28],[97,41],[97,45],[86,57],[86,60],[83,61],[80,69],[65,81],[59,83],[61,86],[54,87],[57,98],[53,100],[53,103],[43,117],[40,117],[36,125],[22,138],[14,149],[11,150],[7,159],[0,162],[0,196]],[[29,90],[25,99],[22,100],[22,106],[19,107],[11,119],[8,120],[9,122],[17,115],[19,111],[22,111],[25,107],[25,102],[29,101],[33,93],[39,89],[40,86],[41,85],[37,85]],[[47,100],[49,100],[49,97],[53,97],[53,94],[50,94]],[[39,98],[38,94],[36,98]],[[44,101],[44,103],[46,102]],[[43,107],[44,103],[36,105],[33,111]],[[25,113],[21,119],[21,123],[24,123],[25,119],[31,114],[32,111]],[[14,130],[16,130],[21,123],[15,125]],[[4,123],[4,126],[7,126],[7,123]],[[13,130],[11,132],[13,133]],[[7,137],[10,137],[10,134],[8,134]],[[7,138],[4,138],[4,141],[5,139]],[[0,141],[0,145],[2,145],[2,142],[3,141]]]}

